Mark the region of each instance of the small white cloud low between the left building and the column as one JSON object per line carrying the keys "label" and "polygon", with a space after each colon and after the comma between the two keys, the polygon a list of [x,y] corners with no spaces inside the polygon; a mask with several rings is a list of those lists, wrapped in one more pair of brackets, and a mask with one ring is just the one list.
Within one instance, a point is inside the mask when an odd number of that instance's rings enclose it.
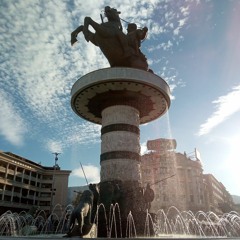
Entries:
{"label": "small white cloud low between the left building and the column", "polygon": [[[88,183],[98,183],[100,182],[100,170],[98,167],[93,166],[93,165],[83,165],[83,170],[86,175]],[[74,169],[71,173],[71,175],[84,178],[84,173],[81,168],[81,166],[77,169]]]}

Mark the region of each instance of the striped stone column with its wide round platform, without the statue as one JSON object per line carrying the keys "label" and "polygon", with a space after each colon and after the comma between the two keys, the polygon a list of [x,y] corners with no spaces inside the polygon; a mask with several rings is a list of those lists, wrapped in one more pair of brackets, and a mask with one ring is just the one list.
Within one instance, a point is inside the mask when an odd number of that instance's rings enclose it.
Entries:
{"label": "striped stone column with its wide round platform, without the statue", "polygon": [[[170,89],[159,76],[134,68],[106,68],[82,76],[72,88],[71,106],[80,117],[101,124],[99,236],[107,236],[111,204],[121,209],[123,231],[129,212],[144,231],[146,204],[141,186],[139,125],[162,116],[170,106]],[[102,208],[100,208],[102,209]],[[117,217],[118,218],[118,217]],[[116,229],[118,231],[118,229]]]}

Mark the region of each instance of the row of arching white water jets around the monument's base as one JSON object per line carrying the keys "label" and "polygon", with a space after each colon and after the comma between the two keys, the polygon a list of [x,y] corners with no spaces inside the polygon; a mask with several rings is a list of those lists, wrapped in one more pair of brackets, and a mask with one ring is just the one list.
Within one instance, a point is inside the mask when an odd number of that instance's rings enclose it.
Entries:
{"label": "row of arching white water jets around the monument's base", "polygon": [[[62,215],[58,217],[54,212],[46,217],[44,211],[40,211],[36,216],[31,216],[27,212],[12,213],[7,211],[0,216],[0,239],[4,237],[18,237],[18,239],[26,239],[26,236],[34,236],[34,239],[45,238],[62,238],[68,228],[69,218],[73,206],[69,205],[62,211]],[[55,211],[55,210],[54,210]],[[99,214],[104,212],[106,217],[106,226],[108,232],[106,238],[121,238],[125,235],[127,238],[141,238],[136,230],[134,218],[131,212],[127,216],[126,229],[121,228],[121,221],[118,204],[111,205],[112,214],[107,219],[107,211],[103,204],[97,208],[94,223],[98,225]],[[170,217],[171,215],[171,217]],[[151,225],[154,234],[151,234]],[[116,229],[121,229],[118,235]],[[125,231],[125,232],[123,232]],[[113,235],[114,233],[114,235]],[[156,218],[152,219],[149,213],[146,213],[144,220],[144,238],[237,238],[240,236],[240,215],[236,212],[225,213],[217,216],[213,212],[204,213],[198,211],[179,211],[176,207],[170,207],[166,212],[159,209]],[[142,236],[143,236],[142,235]]]}

